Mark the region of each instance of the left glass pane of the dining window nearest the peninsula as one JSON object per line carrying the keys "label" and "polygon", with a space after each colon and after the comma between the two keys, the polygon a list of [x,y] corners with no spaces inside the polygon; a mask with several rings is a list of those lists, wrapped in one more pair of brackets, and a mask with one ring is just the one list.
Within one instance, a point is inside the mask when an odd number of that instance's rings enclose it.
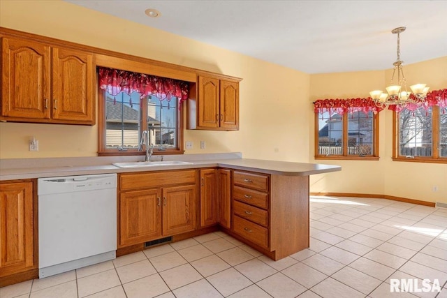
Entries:
{"label": "left glass pane of the dining window nearest the peninsula", "polygon": [[339,114],[318,114],[318,155],[343,154],[343,119]]}

